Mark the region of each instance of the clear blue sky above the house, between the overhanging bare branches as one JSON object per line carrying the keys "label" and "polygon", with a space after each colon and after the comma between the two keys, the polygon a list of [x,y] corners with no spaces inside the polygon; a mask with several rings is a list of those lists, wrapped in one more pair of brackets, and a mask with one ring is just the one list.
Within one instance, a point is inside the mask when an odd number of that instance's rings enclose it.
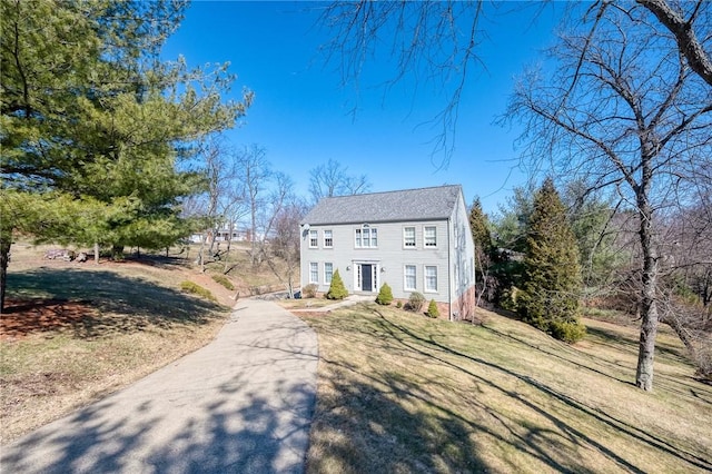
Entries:
{"label": "clear blue sky above the house, between the overhanging bare branches", "polygon": [[[328,40],[317,24],[325,6],[195,1],[164,56],[182,55],[190,66],[229,61],[238,76],[234,98],[243,87],[255,92],[241,127],[228,134],[231,144],[264,147],[305,197],[309,170],[334,159],[349,174],[365,174],[372,191],[459,184],[467,204],[478,196],[485,211],[496,211],[525,176],[516,167],[517,131],[493,120],[505,111],[515,76],[553,41],[555,7],[485,3],[478,53],[486,69],[473,69],[467,79],[454,152],[443,168],[442,155],[433,155],[438,128],[422,126],[442,109],[442,96],[422,83],[414,95],[413,80],[388,92],[368,87],[367,78],[358,96],[343,88],[336,65],[319,52]],[[378,65],[373,68],[377,72]]]}

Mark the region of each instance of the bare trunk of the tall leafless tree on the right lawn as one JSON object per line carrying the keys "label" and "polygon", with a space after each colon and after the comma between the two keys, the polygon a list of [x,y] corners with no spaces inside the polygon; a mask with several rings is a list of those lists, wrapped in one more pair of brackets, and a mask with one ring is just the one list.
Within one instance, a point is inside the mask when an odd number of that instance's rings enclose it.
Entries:
{"label": "bare trunk of the tall leafless tree on the right lawn", "polygon": [[641,338],[637,352],[635,385],[644,391],[653,389],[653,359],[657,335],[657,258],[653,248],[652,210],[644,191],[639,191],[640,239],[643,250],[641,293]]}

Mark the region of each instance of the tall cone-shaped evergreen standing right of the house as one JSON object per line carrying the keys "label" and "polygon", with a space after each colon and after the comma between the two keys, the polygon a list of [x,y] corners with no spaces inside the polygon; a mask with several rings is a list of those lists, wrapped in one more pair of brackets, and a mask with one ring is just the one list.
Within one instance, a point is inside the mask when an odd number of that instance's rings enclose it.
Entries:
{"label": "tall cone-shaped evergreen standing right of the house", "polygon": [[534,196],[526,246],[520,315],[558,339],[578,340],[585,333],[578,322],[578,247],[550,178]]}

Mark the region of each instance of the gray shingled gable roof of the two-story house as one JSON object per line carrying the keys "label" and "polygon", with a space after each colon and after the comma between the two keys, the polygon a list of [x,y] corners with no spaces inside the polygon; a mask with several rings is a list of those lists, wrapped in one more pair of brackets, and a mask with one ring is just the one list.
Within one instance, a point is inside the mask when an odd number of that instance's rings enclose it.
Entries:
{"label": "gray shingled gable roof of the two-story house", "polygon": [[305,216],[301,224],[364,224],[446,219],[462,195],[459,185],[367,195],[327,197]]}

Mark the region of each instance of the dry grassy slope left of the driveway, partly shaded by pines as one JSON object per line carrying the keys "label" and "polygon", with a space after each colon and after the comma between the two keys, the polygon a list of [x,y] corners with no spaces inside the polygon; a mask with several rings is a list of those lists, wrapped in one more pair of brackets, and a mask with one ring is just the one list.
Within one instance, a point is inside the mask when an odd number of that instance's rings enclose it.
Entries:
{"label": "dry grassy slope left of the driveway, partly shaded by pines", "polygon": [[[2,444],[204,346],[235,304],[180,256],[97,266],[43,259],[47,248],[12,247],[8,298],[19,307],[0,324]],[[184,280],[220,304],[181,293]]]}

